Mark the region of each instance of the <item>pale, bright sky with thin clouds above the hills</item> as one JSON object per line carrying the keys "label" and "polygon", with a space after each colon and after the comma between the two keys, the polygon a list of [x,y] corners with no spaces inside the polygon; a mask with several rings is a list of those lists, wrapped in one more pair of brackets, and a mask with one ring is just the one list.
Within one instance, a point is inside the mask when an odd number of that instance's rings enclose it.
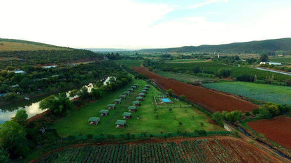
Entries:
{"label": "pale, bright sky with thin clouds above the hills", "polygon": [[290,0],[0,0],[0,38],[162,48],[291,38]]}

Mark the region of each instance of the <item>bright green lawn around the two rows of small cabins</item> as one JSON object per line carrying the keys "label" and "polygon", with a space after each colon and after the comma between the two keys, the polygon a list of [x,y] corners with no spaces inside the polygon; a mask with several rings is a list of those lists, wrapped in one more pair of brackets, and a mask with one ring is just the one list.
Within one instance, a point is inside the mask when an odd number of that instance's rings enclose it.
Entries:
{"label": "bright green lawn around the two rows of small cabins", "polygon": [[[134,83],[139,84],[138,90],[134,91],[128,96],[126,100],[122,100],[122,104],[118,104],[117,108],[109,111],[109,115],[101,117],[101,123],[99,125],[89,125],[88,118],[92,116],[99,116],[101,109],[106,109],[108,103],[112,103],[113,99],[118,98],[123,91],[127,90],[123,88],[116,93],[107,95],[104,99],[88,104],[87,107],[75,111],[66,118],[55,123],[54,127],[60,136],[67,137],[69,135],[82,134],[141,134],[141,132],[158,134],[160,132],[169,133],[177,131],[193,132],[194,130],[206,130],[206,131],[218,131],[224,130],[218,125],[208,123],[208,117],[198,109],[194,107],[173,108],[169,111],[167,108],[159,108],[155,111],[155,105],[153,95],[157,95],[159,91],[150,87],[146,98],[141,102],[141,106],[137,107],[137,111],[132,114],[132,119],[127,120],[127,126],[124,129],[115,128],[115,121],[122,119],[122,113],[127,110],[129,105],[132,105],[132,101],[135,100],[137,94],[141,91],[146,81],[135,80]],[[185,105],[184,102],[176,101],[173,105]],[[140,119],[136,117],[140,116]],[[158,116],[158,117],[156,117]],[[183,125],[179,125],[183,123]],[[201,123],[204,126],[201,127]]]}

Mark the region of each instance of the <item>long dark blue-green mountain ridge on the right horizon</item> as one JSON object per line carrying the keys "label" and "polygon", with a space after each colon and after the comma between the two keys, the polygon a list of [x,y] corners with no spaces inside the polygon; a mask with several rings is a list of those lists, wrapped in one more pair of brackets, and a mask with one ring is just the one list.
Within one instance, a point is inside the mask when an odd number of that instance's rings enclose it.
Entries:
{"label": "long dark blue-green mountain ridge on the right horizon", "polygon": [[225,52],[225,53],[263,53],[291,51],[291,38],[235,42],[223,45],[200,45],[166,49],[141,49],[141,52]]}

